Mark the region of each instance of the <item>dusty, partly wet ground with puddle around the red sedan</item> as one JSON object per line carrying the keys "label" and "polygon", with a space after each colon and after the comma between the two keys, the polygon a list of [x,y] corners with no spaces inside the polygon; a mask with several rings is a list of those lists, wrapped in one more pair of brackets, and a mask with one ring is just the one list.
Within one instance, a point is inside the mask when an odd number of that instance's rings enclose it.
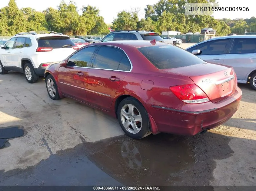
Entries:
{"label": "dusty, partly wet ground with puddle around the red sedan", "polygon": [[0,75],[0,128],[25,130],[0,150],[0,185],[256,185],[256,91],[239,87],[240,108],[222,126],[132,140],[117,119],[51,100],[43,78]]}

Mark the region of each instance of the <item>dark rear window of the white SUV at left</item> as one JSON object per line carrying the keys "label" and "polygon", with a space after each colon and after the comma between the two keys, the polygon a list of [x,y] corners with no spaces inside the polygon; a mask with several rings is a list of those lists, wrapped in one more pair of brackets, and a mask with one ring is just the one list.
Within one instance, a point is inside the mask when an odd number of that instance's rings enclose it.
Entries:
{"label": "dark rear window of the white SUV at left", "polygon": [[[71,48],[75,46],[69,37],[42,37],[37,39],[38,47]],[[70,46],[68,46],[70,45]]]}

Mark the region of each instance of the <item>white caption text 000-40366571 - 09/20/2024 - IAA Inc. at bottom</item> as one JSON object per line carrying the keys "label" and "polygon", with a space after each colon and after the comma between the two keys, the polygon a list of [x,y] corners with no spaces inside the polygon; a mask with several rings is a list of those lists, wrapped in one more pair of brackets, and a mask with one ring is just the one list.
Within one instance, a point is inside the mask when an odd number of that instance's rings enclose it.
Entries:
{"label": "white caption text 000-40366571 - 09/20/2024 - IAA Inc. at bottom", "polygon": [[94,186],[94,190],[160,190],[155,186]]}

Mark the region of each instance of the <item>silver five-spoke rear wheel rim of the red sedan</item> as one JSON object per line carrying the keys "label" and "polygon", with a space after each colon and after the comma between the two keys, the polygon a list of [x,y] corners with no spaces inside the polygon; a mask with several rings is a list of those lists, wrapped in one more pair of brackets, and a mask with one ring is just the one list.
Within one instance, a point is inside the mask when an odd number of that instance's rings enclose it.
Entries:
{"label": "silver five-spoke rear wheel rim of the red sedan", "polygon": [[121,109],[121,122],[125,129],[133,134],[140,132],[142,117],[139,110],[132,104],[126,104]]}

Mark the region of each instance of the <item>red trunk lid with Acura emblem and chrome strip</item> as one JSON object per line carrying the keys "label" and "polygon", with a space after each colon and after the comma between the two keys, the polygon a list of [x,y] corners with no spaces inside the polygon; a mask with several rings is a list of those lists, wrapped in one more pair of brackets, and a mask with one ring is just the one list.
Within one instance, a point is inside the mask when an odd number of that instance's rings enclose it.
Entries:
{"label": "red trunk lid with Acura emblem and chrome strip", "polygon": [[188,76],[213,103],[224,100],[236,90],[237,81],[231,66],[203,63],[165,71]]}

